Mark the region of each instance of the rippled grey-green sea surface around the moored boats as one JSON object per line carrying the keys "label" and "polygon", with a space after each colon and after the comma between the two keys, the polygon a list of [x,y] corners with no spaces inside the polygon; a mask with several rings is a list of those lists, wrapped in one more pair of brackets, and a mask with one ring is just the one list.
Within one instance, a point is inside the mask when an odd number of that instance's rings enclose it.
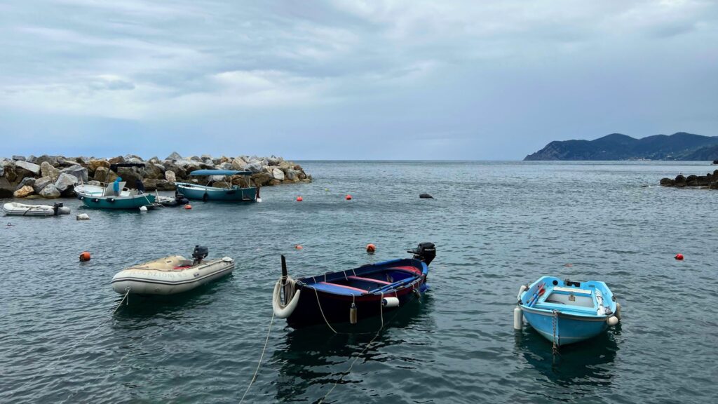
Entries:
{"label": "rippled grey-green sea surface around the moored boats", "polygon": [[[280,254],[299,277],[406,257],[424,241],[437,258],[421,302],[388,316],[363,354],[372,334],[276,319],[246,402],[317,403],[340,377],[325,402],[718,401],[718,191],[655,186],[714,170],[707,163],[302,166],[314,183],[264,188],[263,203],[139,214],[68,199],[70,216],[2,218],[0,402],[238,403],[264,346]],[[75,221],[81,212],[92,219]],[[116,272],[195,244],[233,257],[233,275],[112,313]],[[93,259],[80,264],[84,250]],[[535,331],[512,328],[519,286],[541,275],[605,280],[623,323],[554,359]]]}

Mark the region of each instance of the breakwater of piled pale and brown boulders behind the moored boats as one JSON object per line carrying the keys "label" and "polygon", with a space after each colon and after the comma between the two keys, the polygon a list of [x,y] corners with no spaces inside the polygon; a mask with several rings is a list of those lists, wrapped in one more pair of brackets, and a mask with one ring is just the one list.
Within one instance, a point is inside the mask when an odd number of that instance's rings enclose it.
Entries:
{"label": "breakwater of piled pale and brown boulders behind the moored boats", "polygon": [[[117,167],[121,163],[141,163],[144,167]],[[111,183],[118,176],[126,181],[126,187],[134,188],[136,180],[142,180],[145,190],[174,190],[174,183],[199,183],[192,178],[195,170],[238,170],[252,173],[253,184],[279,185],[285,183],[310,183],[312,175],[302,167],[281,157],[212,157],[210,155],[182,157],[177,152],[164,160],[151,157],[143,160],[136,155],[112,157],[63,156],[12,156],[0,158],[0,198],[60,198],[74,196],[74,185],[85,183]],[[203,179],[203,178],[202,178]],[[244,175],[230,177],[233,185],[248,186]],[[217,183],[226,186],[226,183]]]}

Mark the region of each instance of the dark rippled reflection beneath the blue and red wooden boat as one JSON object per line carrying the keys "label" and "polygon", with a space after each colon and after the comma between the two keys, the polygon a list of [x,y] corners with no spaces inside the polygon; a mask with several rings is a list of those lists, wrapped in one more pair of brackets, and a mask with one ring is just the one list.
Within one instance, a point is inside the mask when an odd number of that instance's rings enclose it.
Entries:
{"label": "dark rippled reflection beneath the blue and red wooden boat", "polygon": [[[408,343],[404,339],[397,338],[391,330],[411,329],[419,322],[425,328],[426,321],[431,321],[426,314],[432,310],[432,304],[431,295],[425,294],[420,299],[411,300],[399,310],[386,313],[385,328],[376,339],[374,337],[381,329],[381,318],[367,318],[353,326],[349,323],[332,324],[340,334],[334,334],[326,325],[298,330],[286,327],[284,344],[276,349],[270,359],[270,362],[280,364],[279,375],[275,382],[277,388],[275,400],[279,402],[316,400],[317,396],[326,394],[337,382],[340,384],[361,382],[358,379],[360,375],[348,377],[346,372],[350,362],[357,355],[361,355],[358,363],[388,360],[390,357],[386,352],[391,352],[392,346]],[[374,341],[367,347],[372,339]],[[394,359],[396,358],[392,358]],[[407,362],[415,360],[413,357],[402,359]],[[307,393],[309,387],[317,388]]]}

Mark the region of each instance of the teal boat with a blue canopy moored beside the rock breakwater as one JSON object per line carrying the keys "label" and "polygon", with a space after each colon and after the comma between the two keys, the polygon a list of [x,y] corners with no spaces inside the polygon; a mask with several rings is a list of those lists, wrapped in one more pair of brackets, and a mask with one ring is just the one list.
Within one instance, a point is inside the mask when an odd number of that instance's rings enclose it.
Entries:
{"label": "teal boat with a blue canopy moored beside the rock breakwater", "polygon": [[[230,175],[252,175],[249,171],[235,170],[195,170],[190,173],[195,177],[213,177],[221,175],[225,177],[228,184],[231,183],[228,178]],[[200,201],[235,201],[235,202],[261,202],[259,198],[258,187],[240,188],[238,185],[230,185],[228,188],[218,188],[210,186],[211,178],[207,185],[198,185],[192,183],[176,183],[177,193],[181,193],[187,199],[195,199]]]}

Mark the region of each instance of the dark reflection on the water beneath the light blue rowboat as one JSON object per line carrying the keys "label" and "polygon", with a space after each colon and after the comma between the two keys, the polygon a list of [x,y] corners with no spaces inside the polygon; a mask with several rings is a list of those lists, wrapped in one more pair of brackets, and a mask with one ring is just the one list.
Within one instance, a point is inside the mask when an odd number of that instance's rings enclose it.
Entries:
{"label": "dark reflection on the water beneath the light blue rowboat", "polygon": [[516,332],[516,353],[547,380],[561,387],[608,386],[613,377],[612,364],[618,352],[615,335],[620,323],[595,338],[561,346],[554,357],[551,341],[531,326]]}

